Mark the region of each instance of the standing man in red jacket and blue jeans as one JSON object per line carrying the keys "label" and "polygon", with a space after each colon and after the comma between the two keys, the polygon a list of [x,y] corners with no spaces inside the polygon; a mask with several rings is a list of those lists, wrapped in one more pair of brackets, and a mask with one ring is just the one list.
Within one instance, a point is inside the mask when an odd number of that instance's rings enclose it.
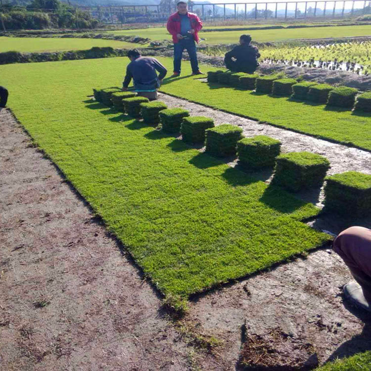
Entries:
{"label": "standing man in red jacket and blue jeans", "polygon": [[177,77],[181,74],[181,63],[183,50],[186,49],[190,59],[192,75],[202,75],[198,68],[196,44],[198,44],[198,31],[202,28],[202,22],[197,14],[189,13],[187,3],[178,1],[178,11],[172,14],[167,23],[167,29],[173,36],[174,42],[174,74]]}

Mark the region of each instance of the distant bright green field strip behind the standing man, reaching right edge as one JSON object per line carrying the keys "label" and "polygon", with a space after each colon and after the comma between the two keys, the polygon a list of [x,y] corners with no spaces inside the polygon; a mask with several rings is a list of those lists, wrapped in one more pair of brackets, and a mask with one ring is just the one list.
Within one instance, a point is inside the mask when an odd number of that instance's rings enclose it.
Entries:
{"label": "distant bright green field strip behind the standing man, reaching right edge", "polygon": [[[120,30],[109,32],[116,35],[141,36],[151,40],[166,40],[170,38],[165,27],[144,28],[136,30]],[[236,44],[241,34],[248,33],[253,41],[274,42],[297,39],[341,38],[350,36],[370,36],[371,25],[365,26],[333,26],[311,27],[274,30],[251,30],[251,31],[214,31],[201,32],[200,38],[205,39],[203,44]]]}

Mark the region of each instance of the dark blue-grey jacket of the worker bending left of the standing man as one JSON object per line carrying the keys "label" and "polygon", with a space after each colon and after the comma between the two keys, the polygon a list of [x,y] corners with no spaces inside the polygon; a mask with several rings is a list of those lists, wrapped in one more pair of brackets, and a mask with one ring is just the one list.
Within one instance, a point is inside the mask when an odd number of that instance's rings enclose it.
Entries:
{"label": "dark blue-grey jacket of the worker bending left of the standing man", "polygon": [[[158,78],[156,71],[159,72]],[[127,88],[133,78],[135,90],[154,90],[159,88],[159,80],[162,80],[167,72],[157,59],[139,56],[126,67],[126,76],[122,85]]]}

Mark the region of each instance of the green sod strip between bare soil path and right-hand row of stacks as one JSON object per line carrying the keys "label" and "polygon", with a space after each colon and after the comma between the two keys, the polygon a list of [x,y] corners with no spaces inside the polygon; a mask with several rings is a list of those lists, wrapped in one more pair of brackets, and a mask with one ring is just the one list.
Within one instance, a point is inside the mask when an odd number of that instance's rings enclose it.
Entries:
{"label": "green sod strip between bare soil path and right-hand row of stacks", "polygon": [[[188,63],[183,62],[183,66]],[[161,91],[282,128],[371,150],[371,113],[352,113],[349,109],[208,84],[197,77],[165,80]]]}

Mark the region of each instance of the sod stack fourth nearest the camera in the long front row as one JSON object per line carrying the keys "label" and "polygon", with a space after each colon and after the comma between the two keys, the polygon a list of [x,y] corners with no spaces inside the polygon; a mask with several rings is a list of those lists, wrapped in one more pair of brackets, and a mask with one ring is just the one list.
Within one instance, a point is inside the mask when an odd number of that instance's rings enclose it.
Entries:
{"label": "sod stack fourth nearest the camera in the long front row", "polygon": [[206,130],[206,152],[218,156],[236,153],[237,141],[242,138],[242,129],[230,124],[222,124]]}

